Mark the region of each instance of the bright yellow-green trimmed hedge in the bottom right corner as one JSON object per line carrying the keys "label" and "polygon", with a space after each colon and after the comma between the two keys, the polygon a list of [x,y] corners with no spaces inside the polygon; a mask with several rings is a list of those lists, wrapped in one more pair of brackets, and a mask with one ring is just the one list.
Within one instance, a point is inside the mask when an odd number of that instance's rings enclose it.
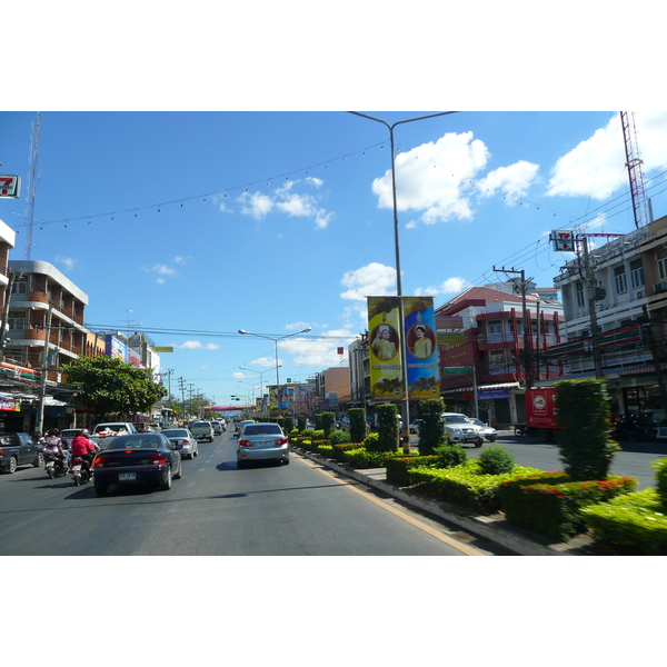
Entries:
{"label": "bright yellow-green trimmed hedge in the bottom right corner", "polygon": [[618,556],[667,556],[667,507],[655,489],[589,505],[581,517],[596,549]]}

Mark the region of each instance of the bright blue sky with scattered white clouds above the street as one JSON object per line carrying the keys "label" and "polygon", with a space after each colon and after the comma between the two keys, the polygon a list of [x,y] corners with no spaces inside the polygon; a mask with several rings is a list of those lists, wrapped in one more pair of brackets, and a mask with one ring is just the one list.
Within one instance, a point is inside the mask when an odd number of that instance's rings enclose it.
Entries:
{"label": "bright blue sky with scattered white clouds above the street", "polygon": [[[431,111],[364,111],[392,123]],[[0,113],[0,200],[26,258],[34,111]],[[667,213],[667,113],[636,113],[645,186]],[[405,295],[444,303],[525,269],[539,286],[567,259],[552,229],[634,229],[618,112],[457,112],[396,129]],[[257,394],[275,366],[305,381],[346,364],[368,295],[395,293],[387,129],[345,111],[42,111],[30,258],[90,299],[92,329],[146,330],[217,405]],[[584,227],[581,227],[584,226]],[[175,330],[182,331],[177,335]],[[346,356],[337,354],[344,347]],[[245,366],[257,372],[239,369]],[[265,382],[275,374],[266,372]]]}

